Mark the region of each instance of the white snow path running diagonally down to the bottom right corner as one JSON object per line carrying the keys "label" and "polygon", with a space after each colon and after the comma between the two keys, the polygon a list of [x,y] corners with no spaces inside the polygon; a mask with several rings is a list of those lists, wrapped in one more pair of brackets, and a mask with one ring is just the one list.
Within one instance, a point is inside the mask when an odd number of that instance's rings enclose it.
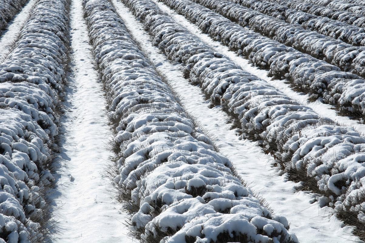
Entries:
{"label": "white snow path running diagonally down to the bottom right corner", "polygon": [[[287,217],[291,222],[291,231],[296,233],[301,242],[336,243],[358,240],[349,234],[350,229],[348,227],[341,228],[343,224],[334,216],[327,216],[328,208],[321,209],[317,204],[310,204],[310,197],[306,193],[294,193],[295,183],[284,182],[282,176],[277,176],[277,171],[274,171],[270,166],[273,162],[272,157],[265,155],[256,143],[238,140],[236,132],[230,130],[226,124],[227,117],[219,107],[209,109],[207,107],[208,101],[204,101],[200,89],[190,85],[183,78],[180,67],[170,64],[165,56],[151,45],[150,37],[143,30],[141,23],[135,20],[120,1],[112,0],[112,2],[131,34],[138,37],[143,52],[157,67],[157,70],[166,77],[166,80],[170,81],[173,89],[181,95],[185,109],[196,117],[203,128],[213,134],[219,149],[231,159],[243,179],[247,183],[251,183],[251,187],[259,191],[269,202],[274,212]],[[164,11],[172,14],[164,5],[158,5]],[[180,22],[185,27],[189,27],[194,34],[197,34],[197,29],[188,26],[190,23]],[[203,34],[199,34],[200,38],[201,35]],[[218,47],[222,49],[222,46],[217,45],[215,43],[214,46],[217,49]],[[256,70],[254,73],[257,74],[258,72],[261,71]]]}

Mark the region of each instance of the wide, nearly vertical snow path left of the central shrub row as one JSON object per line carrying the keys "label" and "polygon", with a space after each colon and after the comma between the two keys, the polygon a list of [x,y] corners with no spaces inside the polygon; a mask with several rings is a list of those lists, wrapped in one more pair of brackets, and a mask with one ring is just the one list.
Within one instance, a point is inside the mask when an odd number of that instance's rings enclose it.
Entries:
{"label": "wide, nearly vertical snow path left of the central shrub row", "polygon": [[71,5],[73,75],[70,80],[66,114],[64,152],[57,189],[55,220],[58,235],[55,242],[132,242],[123,224],[126,213],[116,202],[110,179],[105,177],[106,150],[110,131],[101,84],[93,68],[87,26],[82,18],[82,0]]}

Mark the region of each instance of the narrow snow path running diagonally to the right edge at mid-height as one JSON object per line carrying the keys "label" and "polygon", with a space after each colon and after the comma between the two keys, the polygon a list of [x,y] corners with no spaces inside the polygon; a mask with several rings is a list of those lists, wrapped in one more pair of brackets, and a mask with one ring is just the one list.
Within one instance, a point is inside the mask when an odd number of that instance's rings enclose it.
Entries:
{"label": "narrow snow path running diagonally to the right edge at mid-height", "polygon": [[278,79],[273,79],[272,77],[268,77],[267,75],[268,71],[252,66],[249,60],[237,56],[235,52],[230,51],[228,47],[225,46],[224,44],[220,43],[219,41],[214,41],[208,34],[202,33],[195,24],[189,22],[189,20],[185,19],[184,16],[170,9],[167,5],[162,4],[158,1],[155,1],[155,3],[164,12],[168,13],[176,22],[182,24],[191,33],[199,37],[203,42],[214,47],[217,50],[217,52],[223,53],[229,58],[231,58],[231,60],[234,61],[236,64],[240,65],[243,70],[250,72],[257,77],[260,77],[261,79],[265,80],[278,90],[284,92],[284,94],[288,95],[290,98],[297,100],[299,103],[311,107],[316,113],[325,114],[324,116],[331,118],[334,121],[339,122],[340,124],[353,126],[358,132],[365,134],[365,124],[360,124],[358,121],[352,120],[348,117],[342,117],[337,115],[336,110],[331,109],[333,106],[324,104],[319,100],[317,100],[316,102],[308,102],[309,96],[307,94],[293,91],[291,88],[289,88],[288,84],[284,83],[285,80],[278,80]]}

